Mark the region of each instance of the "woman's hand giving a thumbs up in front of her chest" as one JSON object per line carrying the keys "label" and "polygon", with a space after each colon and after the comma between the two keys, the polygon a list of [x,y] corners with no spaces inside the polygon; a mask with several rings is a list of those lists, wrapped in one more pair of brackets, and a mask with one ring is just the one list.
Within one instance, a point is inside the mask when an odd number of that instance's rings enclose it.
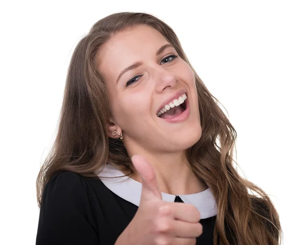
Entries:
{"label": "woman's hand giving a thumbs up in front of her chest", "polygon": [[141,201],[115,245],[195,244],[203,232],[199,211],[190,204],[162,201],[152,166],[141,155],[131,160],[142,179]]}

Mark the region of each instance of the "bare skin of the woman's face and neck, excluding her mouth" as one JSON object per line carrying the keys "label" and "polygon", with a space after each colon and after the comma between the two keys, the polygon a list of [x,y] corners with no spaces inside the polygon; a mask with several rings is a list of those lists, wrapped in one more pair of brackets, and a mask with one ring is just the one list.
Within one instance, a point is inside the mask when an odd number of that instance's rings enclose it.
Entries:
{"label": "bare skin of the woman's face and neck, excluding her mouth", "polygon": [[[198,193],[207,186],[190,170],[185,156],[185,150],[202,133],[195,79],[180,56],[169,57],[178,55],[173,47],[156,55],[168,43],[156,29],[139,25],[116,34],[98,52],[98,70],[111,102],[108,135],[113,138],[115,129],[122,132],[129,157],[139,154],[148,160],[162,192]],[[119,74],[136,61],[143,64],[117,81]],[[126,86],[134,77],[135,82]],[[189,118],[179,123],[159,118],[156,113],[163,102],[182,88],[190,104]],[[138,174],[134,179],[141,182]]]}

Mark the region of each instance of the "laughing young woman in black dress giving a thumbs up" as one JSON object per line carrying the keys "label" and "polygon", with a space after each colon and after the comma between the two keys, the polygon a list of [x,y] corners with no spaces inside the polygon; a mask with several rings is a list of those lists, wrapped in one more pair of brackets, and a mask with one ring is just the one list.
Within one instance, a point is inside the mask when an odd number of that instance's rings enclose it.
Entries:
{"label": "laughing young woman in black dress giving a thumbs up", "polygon": [[168,25],[99,20],[74,51],[37,178],[36,244],[279,244],[269,196],[233,167],[235,139]]}

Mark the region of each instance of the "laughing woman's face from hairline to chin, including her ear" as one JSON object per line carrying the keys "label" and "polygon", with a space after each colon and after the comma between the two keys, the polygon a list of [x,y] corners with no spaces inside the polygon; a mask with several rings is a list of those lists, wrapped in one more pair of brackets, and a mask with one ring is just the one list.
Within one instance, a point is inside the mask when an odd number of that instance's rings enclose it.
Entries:
{"label": "laughing woman's face from hairline to chin, including her ear", "polygon": [[128,152],[175,152],[200,139],[193,72],[160,32],[147,25],[122,31],[97,58],[111,104],[108,135],[122,131]]}

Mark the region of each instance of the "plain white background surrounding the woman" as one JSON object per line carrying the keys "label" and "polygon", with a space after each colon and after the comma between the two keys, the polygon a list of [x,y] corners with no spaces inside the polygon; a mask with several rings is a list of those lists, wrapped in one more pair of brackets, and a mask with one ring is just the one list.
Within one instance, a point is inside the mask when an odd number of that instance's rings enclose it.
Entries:
{"label": "plain white background surrounding the woman", "polygon": [[1,244],[35,244],[35,180],[80,38],[122,11],[163,19],[237,131],[237,162],[272,198],[284,244],[306,232],[306,1],[8,1],[0,6]]}

